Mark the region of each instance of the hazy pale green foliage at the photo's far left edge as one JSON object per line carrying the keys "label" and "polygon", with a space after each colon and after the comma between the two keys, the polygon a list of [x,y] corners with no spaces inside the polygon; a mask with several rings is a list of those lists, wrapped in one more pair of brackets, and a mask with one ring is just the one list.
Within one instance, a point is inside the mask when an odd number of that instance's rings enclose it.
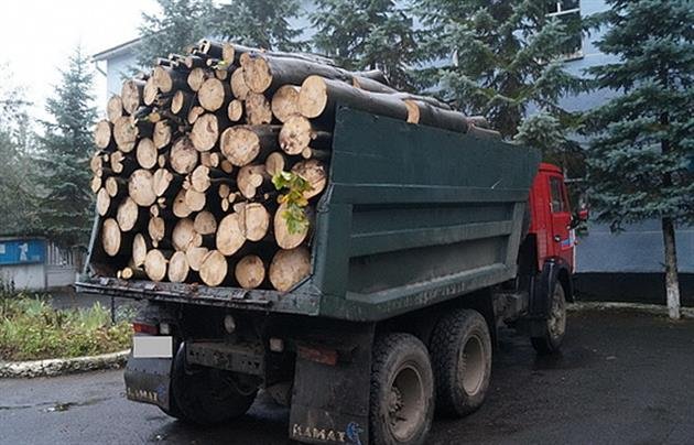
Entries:
{"label": "hazy pale green foliage at the photo's far left edge", "polygon": [[23,89],[3,69],[0,79],[0,236],[29,235],[36,230],[33,133]]}

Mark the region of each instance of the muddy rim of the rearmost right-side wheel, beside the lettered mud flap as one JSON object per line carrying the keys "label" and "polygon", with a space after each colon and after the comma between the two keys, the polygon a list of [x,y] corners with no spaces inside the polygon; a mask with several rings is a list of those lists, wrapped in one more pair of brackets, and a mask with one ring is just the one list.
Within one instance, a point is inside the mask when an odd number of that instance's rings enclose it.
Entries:
{"label": "muddy rim of the rearmost right-side wheel, beside the lettered mud flap", "polygon": [[388,426],[398,441],[405,442],[418,432],[426,413],[422,375],[416,367],[403,365],[388,394]]}

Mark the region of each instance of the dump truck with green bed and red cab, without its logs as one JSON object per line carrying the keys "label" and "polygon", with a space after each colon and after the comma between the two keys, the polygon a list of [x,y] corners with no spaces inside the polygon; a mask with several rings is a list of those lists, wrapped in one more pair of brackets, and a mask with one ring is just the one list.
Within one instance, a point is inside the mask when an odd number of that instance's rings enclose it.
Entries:
{"label": "dump truck with green bed and red cab, without its logs", "polygon": [[[289,436],[423,444],[485,400],[497,327],[556,351],[573,299],[562,171],[535,150],[340,108],[311,274],[289,292],[123,281],[93,236],[82,292],[145,302],[127,397],[196,424],[259,390]],[[98,231],[99,225],[95,225]]]}

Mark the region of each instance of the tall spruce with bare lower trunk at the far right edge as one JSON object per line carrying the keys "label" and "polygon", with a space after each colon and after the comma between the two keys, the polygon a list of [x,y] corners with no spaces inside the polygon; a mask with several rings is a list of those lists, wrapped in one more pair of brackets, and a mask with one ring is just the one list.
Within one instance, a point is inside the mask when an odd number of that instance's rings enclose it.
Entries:
{"label": "tall spruce with bare lower trunk at the far right edge", "polygon": [[592,18],[618,62],[589,69],[622,95],[587,122],[592,203],[615,229],[660,219],[670,316],[680,316],[675,226],[694,219],[694,9],[690,0],[608,0]]}

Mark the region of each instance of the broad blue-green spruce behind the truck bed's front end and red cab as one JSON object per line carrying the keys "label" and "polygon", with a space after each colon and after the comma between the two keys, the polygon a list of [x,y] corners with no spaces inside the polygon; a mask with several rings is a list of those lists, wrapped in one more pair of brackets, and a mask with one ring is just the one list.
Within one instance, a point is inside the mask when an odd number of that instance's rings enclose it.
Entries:
{"label": "broad blue-green spruce behind the truck bed's front end and red cab", "polygon": [[[421,78],[470,113],[487,117],[505,137],[517,134],[530,110],[560,122],[576,117],[559,106],[582,83],[564,70],[562,58],[574,50],[581,20],[549,17],[556,1],[421,0],[426,58],[433,67]],[[578,34],[577,34],[578,33]],[[529,122],[524,137],[538,123]],[[531,135],[539,139],[540,135]]]}

